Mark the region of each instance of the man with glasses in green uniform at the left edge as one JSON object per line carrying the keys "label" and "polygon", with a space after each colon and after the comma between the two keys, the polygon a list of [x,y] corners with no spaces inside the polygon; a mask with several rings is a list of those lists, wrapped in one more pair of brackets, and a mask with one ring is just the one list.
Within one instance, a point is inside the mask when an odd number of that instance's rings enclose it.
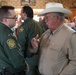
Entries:
{"label": "man with glasses in green uniform at the left edge", "polygon": [[14,7],[0,8],[0,75],[25,75],[26,63],[11,27],[16,23]]}

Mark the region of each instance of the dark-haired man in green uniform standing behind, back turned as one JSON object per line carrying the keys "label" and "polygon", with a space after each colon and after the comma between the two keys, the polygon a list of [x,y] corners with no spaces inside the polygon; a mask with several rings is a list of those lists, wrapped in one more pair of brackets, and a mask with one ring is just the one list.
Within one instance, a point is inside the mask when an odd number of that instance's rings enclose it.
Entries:
{"label": "dark-haired man in green uniform standing behind, back turned", "polygon": [[37,75],[38,54],[31,53],[29,50],[30,41],[37,34],[42,34],[40,23],[33,20],[33,10],[29,6],[24,6],[21,10],[21,18],[24,20],[18,28],[18,42],[22,47],[25,60],[29,65],[29,71],[26,75]]}

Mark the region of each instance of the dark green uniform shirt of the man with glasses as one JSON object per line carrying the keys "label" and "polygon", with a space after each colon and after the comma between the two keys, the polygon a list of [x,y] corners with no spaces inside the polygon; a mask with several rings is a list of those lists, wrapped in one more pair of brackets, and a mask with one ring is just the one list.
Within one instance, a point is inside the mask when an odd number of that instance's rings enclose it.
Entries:
{"label": "dark green uniform shirt of the man with glasses", "polygon": [[25,68],[25,61],[12,31],[0,23],[0,72],[5,68],[12,73],[20,72]]}

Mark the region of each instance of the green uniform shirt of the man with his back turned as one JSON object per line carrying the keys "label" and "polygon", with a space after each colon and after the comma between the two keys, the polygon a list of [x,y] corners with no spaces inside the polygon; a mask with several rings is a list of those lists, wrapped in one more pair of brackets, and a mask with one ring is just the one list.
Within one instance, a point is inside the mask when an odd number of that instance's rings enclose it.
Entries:
{"label": "green uniform shirt of the man with his back turned", "polygon": [[42,32],[43,31],[40,26],[40,23],[31,18],[27,18],[24,21],[24,23],[19,27],[18,42],[21,45],[25,56],[26,55],[30,56],[30,54],[29,53],[27,54],[27,52],[29,52],[29,46],[30,46],[31,39],[34,38],[37,34],[40,37]]}

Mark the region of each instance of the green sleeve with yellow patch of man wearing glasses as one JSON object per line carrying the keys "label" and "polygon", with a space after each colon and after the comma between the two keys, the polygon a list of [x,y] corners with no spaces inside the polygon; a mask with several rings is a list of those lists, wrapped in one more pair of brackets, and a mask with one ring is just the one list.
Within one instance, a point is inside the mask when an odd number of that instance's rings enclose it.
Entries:
{"label": "green sleeve with yellow patch of man wearing glasses", "polygon": [[3,42],[3,48],[8,61],[15,69],[21,70],[25,67],[25,60],[21,54],[21,48],[14,37],[8,37]]}

